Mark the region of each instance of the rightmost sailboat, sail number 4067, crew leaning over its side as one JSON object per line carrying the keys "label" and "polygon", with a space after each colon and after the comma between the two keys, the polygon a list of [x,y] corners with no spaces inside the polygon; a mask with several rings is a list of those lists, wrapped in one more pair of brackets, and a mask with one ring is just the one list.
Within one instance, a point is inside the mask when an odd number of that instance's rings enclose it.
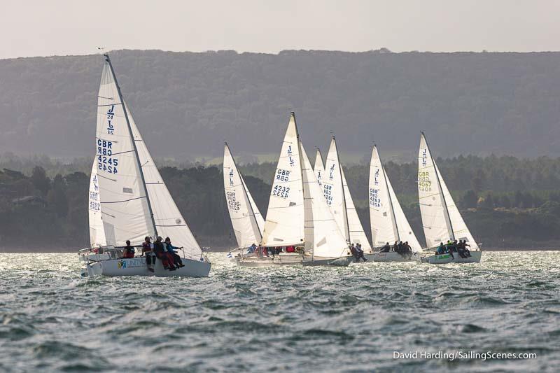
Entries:
{"label": "rightmost sailboat, sail number 4067, crew leaning over its side", "polygon": [[461,258],[458,253],[435,254],[421,258],[422,262],[430,264],[480,262],[482,251],[470,234],[443,181],[423,132],[420,137],[418,155],[418,197],[426,247],[435,251],[440,243],[445,244],[447,240],[455,239],[465,240],[470,246],[470,257],[468,258]]}

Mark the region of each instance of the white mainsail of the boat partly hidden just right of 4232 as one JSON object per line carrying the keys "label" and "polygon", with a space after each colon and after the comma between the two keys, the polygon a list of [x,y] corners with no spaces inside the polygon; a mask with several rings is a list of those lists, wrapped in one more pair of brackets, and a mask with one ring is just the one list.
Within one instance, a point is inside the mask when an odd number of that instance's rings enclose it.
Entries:
{"label": "white mainsail of the boat partly hidden just right of 4232", "polygon": [[341,170],[337,143],[335,136],[332,136],[325,164],[325,175],[323,177],[323,195],[330,206],[332,214],[335,216],[340,230],[344,233],[344,238],[349,242],[350,233],[348,218],[346,217],[346,200],[344,199],[344,183]]}

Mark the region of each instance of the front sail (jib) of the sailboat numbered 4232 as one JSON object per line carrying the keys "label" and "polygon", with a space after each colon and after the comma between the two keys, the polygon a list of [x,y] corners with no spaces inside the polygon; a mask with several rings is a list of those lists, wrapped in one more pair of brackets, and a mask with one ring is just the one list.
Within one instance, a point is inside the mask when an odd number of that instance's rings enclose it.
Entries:
{"label": "front sail (jib) of the sailboat numbered 4232", "polygon": [[323,258],[349,255],[346,239],[325,201],[301,142],[300,151],[305,206],[305,251]]}

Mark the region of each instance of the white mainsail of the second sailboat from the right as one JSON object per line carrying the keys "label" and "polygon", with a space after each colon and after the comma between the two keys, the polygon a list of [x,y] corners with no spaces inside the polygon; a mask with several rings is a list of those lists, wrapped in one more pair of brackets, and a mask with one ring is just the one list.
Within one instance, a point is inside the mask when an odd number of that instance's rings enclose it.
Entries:
{"label": "white mainsail of the second sailboat from the right", "polygon": [[372,149],[368,195],[373,246],[379,247],[387,242],[393,244],[399,241],[398,226],[388,190],[388,178],[385,176],[376,146]]}

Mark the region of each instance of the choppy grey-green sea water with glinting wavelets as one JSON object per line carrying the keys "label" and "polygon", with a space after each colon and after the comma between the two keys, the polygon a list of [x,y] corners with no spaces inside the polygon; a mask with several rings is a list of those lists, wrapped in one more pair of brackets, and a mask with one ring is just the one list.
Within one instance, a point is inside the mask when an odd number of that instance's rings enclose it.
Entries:
{"label": "choppy grey-green sea water with glinting wavelets", "polygon": [[[0,254],[0,371],[540,370],[560,365],[560,252],[479,265],[80,279],[77,255]],[[393,359],[393,351],[537,353]]]}

